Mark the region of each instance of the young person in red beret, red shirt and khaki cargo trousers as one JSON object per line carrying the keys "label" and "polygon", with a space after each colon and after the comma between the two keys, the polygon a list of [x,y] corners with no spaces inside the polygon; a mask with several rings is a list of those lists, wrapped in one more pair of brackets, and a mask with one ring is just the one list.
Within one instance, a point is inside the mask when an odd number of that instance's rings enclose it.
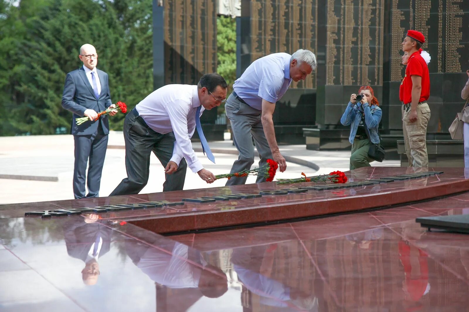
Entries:
{"label": "young person in red beret, red shirt and khaki cargo trousers", "polygon": [[413,167],[428,167],[426,136],[431,116],[427,104],[430,96],[430,75],[427,63],[420,54],[424,43],[424,35],[416,30],[408,30],[402,41],[402,51],[408,54],[406,74],[400,92],[403,104],[402,130],[406,146],[410,148],[409,166]]}

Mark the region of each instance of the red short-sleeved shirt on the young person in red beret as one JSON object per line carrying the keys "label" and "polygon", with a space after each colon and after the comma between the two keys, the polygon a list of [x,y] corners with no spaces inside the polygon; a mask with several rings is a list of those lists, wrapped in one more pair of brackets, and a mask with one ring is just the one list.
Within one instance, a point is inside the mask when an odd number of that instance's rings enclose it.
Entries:
{"label": "red short-sleeved shirt on the young person in red beret", "polygon": [[416,75],[422,77],[422,90],[420,91],[419,102],[428,100],[430,96],[430,75],[428,73],[428,66],[420,52],[414,52],[409,57],[406,67],[406,74],[402,80],[403,89],[403,102],[404,104],[412,103],[412,79],[410,76]]}

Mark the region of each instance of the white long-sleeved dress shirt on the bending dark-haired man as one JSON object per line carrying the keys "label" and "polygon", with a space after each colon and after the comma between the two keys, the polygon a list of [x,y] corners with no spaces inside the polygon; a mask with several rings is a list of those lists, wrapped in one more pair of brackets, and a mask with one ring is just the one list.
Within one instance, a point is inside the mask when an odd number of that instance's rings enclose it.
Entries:
{"label": "white long-sleeved dress shirt on the bending dark-haired man", "polygon": [[[187,165],[194,173],[204,168],[190,142],[200,105],[197,86],[188,84],[168,84],[151,92],[136,105],[138,115],[151,129],[160,134],[174,132],[176,141],[170,160],[179,166],[182,157],[186,158]],[[204,107],[200,115],[203,111]]]}

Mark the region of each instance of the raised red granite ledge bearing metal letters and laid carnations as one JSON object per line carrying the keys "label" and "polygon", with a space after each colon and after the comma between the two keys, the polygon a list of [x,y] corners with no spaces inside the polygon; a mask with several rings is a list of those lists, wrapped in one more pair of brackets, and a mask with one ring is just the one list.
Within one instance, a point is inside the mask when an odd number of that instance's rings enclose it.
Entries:
{"label": "raised red granite ledge bearing metal letters and laid carnations", "polygon": [[[310,190],[305,193],[263,195],[259,198],[215,201],[209,203],[185,202],[179,206],[108,212],[101,214],[106,220],[121,220],[158,233],[200,230],[249,223],[263,223],[316,215],[387,207],[409,201],[445,196],[469,190],[468,172],[463,168],[428,168],[444,171],[443,174],[336,190]],[[348,172],[349,181],[363,181],[405,173],[413,168],[368,167]],[[83,208],[149,201],[181,201],[184,198],[201,198],[235,193],[259,193],[317,185],[313,182],[292,185],[275,183],[216,187],[179,192],[151,193],[132,196],[114,196],[74,201],[10,204],[0,206],[0,217],[21,217],[28,211],[59,208]]]}

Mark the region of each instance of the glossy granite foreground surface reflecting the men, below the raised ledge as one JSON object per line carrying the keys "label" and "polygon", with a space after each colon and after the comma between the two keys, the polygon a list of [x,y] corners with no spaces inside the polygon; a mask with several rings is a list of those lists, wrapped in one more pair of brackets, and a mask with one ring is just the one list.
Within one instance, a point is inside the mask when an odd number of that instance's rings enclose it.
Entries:
{"label": "glossy granite foreground surface reflecting the men, below the raised ledge", "polygon": [[468,236],[415,218],[468,203],[167,237],[83,215],[2,218],[0,311],[466,311]]}

